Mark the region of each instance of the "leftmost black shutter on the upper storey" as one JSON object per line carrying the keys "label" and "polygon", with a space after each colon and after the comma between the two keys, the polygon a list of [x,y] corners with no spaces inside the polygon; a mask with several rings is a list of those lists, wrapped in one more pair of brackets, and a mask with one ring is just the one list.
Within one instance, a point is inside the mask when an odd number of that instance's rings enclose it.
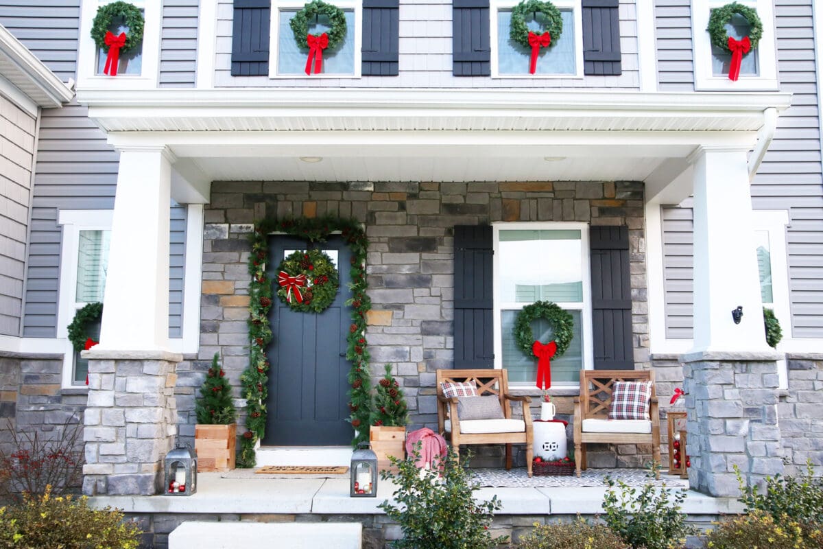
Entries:
{"label": "leftmost black shutter on the upper storey", "polygon": [[269,0],[235,0],[231,31],[231,76],[268,76]]}

